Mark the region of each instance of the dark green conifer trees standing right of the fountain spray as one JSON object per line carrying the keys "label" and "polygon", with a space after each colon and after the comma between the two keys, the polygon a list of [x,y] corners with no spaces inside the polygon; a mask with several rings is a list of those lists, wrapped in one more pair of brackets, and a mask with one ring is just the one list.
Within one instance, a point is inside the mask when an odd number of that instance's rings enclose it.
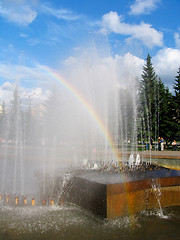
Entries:
{"label": "dark green conifer trees standing right of the fountain spray", "polygon": [[180,67],[175,76],[174,94],[165,87],[148,54],[139,81],[139,137],[146,142],[163,137],[166,143],[180,140]]}

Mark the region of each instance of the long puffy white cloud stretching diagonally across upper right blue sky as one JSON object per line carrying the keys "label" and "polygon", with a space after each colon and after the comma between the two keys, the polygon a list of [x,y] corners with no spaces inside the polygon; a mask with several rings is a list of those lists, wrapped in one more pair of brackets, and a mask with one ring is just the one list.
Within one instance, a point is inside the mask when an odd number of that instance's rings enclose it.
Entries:
{"label": "long puffy white cloud stretching diagonally across upper right blue sky", "polygon": [[144,45],[152,48],[163,45],[163,33],[152,28],[150,24],[141,22],[139,25],[128,24],[122,21],[121,16],[116,12],[109,12],[102,17],[102,32],[114,32],[122,35],[129,35],[138,39]]}

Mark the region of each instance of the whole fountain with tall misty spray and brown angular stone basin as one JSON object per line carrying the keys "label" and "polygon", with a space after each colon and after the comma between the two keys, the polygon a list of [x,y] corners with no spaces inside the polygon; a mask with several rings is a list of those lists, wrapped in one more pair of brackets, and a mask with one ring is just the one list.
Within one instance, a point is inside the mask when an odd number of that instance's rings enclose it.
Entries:
{"label": "whole fountain with tall misty spray and brown angular stone basin", "polygon": [[[144,161],[136,147],[133,74],[128,72],[126,81],[119,78],[108,58],[83,56],[73,64],[67,66],[65,77],[42,67],[58,84],[38,111],[30,103],[20,106],[22,96],[15,89],[5,115],[0,192],[12,196],[16,205],[28,195],[31,205],[68,201],[105,218],[159,203],[179,205],[180,172]],[[155,180],[160,202],[152,191]]]}

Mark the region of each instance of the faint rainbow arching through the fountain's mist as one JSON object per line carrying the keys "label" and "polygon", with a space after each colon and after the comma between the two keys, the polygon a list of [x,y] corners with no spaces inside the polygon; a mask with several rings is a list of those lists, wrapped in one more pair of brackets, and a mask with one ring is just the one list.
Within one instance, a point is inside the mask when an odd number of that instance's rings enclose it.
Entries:
{"label": "faint rainbow arching through the fountain's mist", "polygon": [[78,90],[72,84],[66,81],[64,77],[59,75],[56,71],[54,71],[53,69],[47,66],[41,66],[41,69],[45,73],[47,73],[49,77],[58,81],[67,91],[69,91],[76,99],[79,100],[79,102],[85,107],[89,115],[95,120],[101,132],[103,133],[109,145],[111,146],[114,156],[117,157],[117,153],[114,149],[114,142],[112,140],[112,137],[108,132],[107,128],[105,127],[105,124],[99,117],[98,113],[94,110],[94,108],[90,105],[90,103],[87,102],[87,100],[78,92]]}

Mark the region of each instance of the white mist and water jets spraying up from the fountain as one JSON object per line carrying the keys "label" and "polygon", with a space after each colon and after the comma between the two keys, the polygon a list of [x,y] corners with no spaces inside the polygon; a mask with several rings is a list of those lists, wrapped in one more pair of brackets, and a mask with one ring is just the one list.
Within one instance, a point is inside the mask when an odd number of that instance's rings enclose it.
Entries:
{"label": "white mist and water jets spraying up from the fountain", "polygon": [[1,191],[53,194],[65,168],[117,162],[118,154],[125,161],[123,151],[137,140],[142,64],[130,53],[111,56],[93,47],[51,69],[56,78],[42,72],[43,88],[15,84],[1,125]]}

